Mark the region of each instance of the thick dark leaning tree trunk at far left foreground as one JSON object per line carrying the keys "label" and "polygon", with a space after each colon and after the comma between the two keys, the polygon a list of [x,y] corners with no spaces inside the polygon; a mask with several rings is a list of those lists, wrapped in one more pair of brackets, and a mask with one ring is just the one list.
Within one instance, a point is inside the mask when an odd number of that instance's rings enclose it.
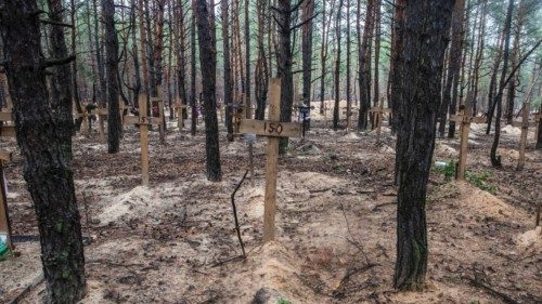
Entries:
{"label": "thick dark leaning tree trunk at far left foreground", "polygon": [[3,65],[25,157],[24,177],[38,219],[49,302],[76,303],[86,287],[80,216],[46,83],[46,67],[59,62],[42,56],[36,0],[4,0],[0,6]]}

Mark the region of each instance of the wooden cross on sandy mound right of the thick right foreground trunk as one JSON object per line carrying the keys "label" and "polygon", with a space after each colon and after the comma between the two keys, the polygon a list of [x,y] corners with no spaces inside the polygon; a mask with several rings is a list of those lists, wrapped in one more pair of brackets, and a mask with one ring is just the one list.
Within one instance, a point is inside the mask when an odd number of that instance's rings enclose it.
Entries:
{"label": "wooden cross on sandy mound right of the thick right foreground trunk", "polygon": [[472,100],[467,97],[465,105],[460,106],[460,114],[451,115],[450,120],[461,122],[460,162],[457,164],[457,171],[455,172],[455,179],[465,180],[465,172],[467,168],[468,131],[470,130],[470,122],[486,122],[486,118],[473,116]]}

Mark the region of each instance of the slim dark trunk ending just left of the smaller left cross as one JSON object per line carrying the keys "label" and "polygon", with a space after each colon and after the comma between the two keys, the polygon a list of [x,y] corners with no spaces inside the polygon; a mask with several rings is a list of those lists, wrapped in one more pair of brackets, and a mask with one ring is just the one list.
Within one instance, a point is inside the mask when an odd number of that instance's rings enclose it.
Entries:
{"label": "slim dark trunk ending just left of the smaller left cross", "polygon": [[107,150],[118,153],[120,146],[120,113],[118,106],[118,38],[115,30],[114,0],[102,0],[105,25],[105,48],[107,65]]}

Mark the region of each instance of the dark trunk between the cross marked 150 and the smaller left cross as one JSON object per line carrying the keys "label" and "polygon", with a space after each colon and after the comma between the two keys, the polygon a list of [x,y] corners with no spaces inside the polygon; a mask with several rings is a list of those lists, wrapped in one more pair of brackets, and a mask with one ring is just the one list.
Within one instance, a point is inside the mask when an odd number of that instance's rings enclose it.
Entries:
{"label": "dark trunk between the cross marked 150 and the smaller left cross", "polygon": [[207,0],[196,0],[197,37],[199,41],[199,65],[202,66],[203,106],[205,110],[205,151],[207,180],[219,182],[220,149],[218,142],[218,119],[216,101],[217,51],[216,40],[211,32],[215,19],[210,18]]}

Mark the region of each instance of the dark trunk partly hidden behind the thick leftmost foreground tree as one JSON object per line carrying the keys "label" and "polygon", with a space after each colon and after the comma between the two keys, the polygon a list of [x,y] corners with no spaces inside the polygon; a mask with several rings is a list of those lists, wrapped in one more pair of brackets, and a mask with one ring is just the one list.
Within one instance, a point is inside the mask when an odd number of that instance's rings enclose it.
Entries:
{"label": "dark trunk partly hidden behind the thick leftmost foreground tree", "polygon": [[[61,0],[48,0],[50,18],[51,21],[62,24],[64,23],[64,11]],[[66,40],[64,37],[64,27],[53,25],[50,30],[51,40],[51,55],[55,60],[63,60],[68,57]],[[75,61],[75,58],[74,58]],[[53,67],[52,78],[52,96],[51,108],[56,114],[54,122],[56,124],[56,132],[61,143],[61,149],[64,159],[68,162],[72,161],[72,134],[74,132],[73,120],[73,102],[72,102],[72,72],[69,65],[63,64]]]}

